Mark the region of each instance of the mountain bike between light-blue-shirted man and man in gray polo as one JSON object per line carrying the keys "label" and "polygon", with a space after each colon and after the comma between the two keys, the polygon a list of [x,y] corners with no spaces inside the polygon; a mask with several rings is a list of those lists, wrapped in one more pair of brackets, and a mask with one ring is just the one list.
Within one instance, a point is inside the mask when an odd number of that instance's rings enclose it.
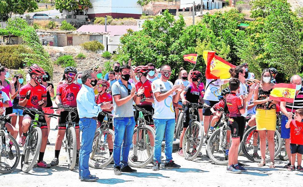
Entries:
{"label": "mountain bike between light-blue-shirted man and man in gray polo", "polygon": [[113,121],[113,115],[103,111],[100,114],[105,117],[95,132],[92,152],[88,161],[90,167],[97,169],[106,167],[113,160],[112,149],[114,148],[115,140],[114,131],[109,128],[109,119]]}

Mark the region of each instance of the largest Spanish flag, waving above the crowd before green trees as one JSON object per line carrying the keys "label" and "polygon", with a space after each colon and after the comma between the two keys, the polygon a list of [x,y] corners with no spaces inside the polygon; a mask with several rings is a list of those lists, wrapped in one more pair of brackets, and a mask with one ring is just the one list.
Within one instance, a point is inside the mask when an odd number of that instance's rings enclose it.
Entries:
{"label": "largest Spanish flag, waving above the crowd before green trees", "polygon": [[203,58],[206,64],[205,77],[207,79],[230,78],[229,69],[235,68],[236,66],[216,56],[215,53],[215,51],[203,51]]}

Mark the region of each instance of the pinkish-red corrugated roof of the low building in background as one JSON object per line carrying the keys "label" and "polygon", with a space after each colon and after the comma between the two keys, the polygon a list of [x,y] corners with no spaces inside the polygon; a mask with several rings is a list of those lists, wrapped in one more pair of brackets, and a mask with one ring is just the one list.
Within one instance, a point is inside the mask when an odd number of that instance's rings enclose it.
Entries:
{"label": "pinkish-red corrugated roof of the low building in background", "polygon": [[128,29],[133,31],[138,31],[138,26],[135,25],[107,25],[105,32],[105,25],[83,25],[76,32],[84,32],[84,33],[107,33],[110,36],[120,36],[127,33]]}

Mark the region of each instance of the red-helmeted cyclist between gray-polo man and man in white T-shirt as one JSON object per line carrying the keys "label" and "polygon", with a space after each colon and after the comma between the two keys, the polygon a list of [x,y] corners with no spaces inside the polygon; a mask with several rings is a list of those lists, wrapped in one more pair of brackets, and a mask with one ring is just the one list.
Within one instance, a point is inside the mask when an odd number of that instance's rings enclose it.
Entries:
{"label": "red-helmeted cyclist between gray-polo man and man in white T-shirt", "polygon": [[[147,79],[147,74],[148,74],[149,70],[148,70],[148,66],[138,66],[135,68],[134,73],[136,74],[136,79],[138,80],[138,82],[135,83],[135,87],[136,87],[136,91],[138,91],[139,89],[144,88],[144,93],[141,95],[141,101],[140,103],[137,105],[138,107],[141,107],[143,109],[146,109],[147,111],[153,113],[154,109],[152,107],[152,103],[154,102],[154,96],[151,90],[151,81]],[[154,126],[154,121],[152,119],[151,115],[144,115],[144,119],[146,121],[147,125],[150,125],[151,127]],[[138,117],[139,117],[139,111],[135,111],[135,122],[136,122],[136,126],[138,125]],[[150,134],[150,132],[148,132],[148,135],[151,137],[152,135]],[[151,147],[154,147],[154,139],[151,138]],[[137,145],[135,145],[136,143],[136,135],[133,136],[133,155],[131,156],[131,160],[132,161],[137,161],[138,160],[138,155],[137,155]]]}

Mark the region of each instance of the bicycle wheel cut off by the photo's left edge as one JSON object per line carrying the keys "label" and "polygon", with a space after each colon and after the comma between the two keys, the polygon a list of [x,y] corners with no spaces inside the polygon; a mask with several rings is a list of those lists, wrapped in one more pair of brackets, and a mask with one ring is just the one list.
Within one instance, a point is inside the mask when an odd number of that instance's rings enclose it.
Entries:
{"label": "bicycle wheel cut off by the photo's left edge", "polygon": [[9,158],[10,151],[6,151],[6,138],[4,132],[0,133],[0,173],[11,173],[13,172],[20,160],[20,150],[19,146],[17,144],[17,141],[12,137],[10,134],[8,134],[8,140],[9,142],[13,143],[13,145],[10,147],[11,153],[13,153],[14,158]]}

